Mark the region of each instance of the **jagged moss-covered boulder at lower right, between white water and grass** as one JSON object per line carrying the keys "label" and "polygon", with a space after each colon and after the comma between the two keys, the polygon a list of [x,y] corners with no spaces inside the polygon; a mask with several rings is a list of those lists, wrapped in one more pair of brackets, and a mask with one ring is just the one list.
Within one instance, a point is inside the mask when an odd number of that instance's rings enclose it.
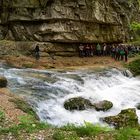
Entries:
{"label": "jagged moss-covered boulder at lower right, between white water and grass", "polygon": [[118,115],[105,117],[102,120],[115,128],[138,126],[138,116],[134,108],[122,110]]}

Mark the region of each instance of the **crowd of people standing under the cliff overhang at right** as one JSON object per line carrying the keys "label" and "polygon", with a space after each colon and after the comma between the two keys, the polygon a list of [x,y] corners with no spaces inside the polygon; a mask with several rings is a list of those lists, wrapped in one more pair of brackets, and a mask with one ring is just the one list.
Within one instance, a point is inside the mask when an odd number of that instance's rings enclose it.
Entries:
{"label": "crowd of people standing under the cliff overhang at right", "polygon": [[124,44],[80,44],[79,56],[80,57],[92,57],[97,56],[111,56],[115,60],[127,61],[128,54],[140,52],[139,47],[126,46]]}

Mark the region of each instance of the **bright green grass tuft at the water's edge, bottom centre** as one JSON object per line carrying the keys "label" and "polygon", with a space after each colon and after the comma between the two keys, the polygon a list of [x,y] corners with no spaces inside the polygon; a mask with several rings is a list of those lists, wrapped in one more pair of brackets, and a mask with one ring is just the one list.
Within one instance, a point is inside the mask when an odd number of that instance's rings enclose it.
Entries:
{"label": "bright green grass tuft at the water's edge, bottom centre", "polygon": [[61,128],[65,131],[75,131],[78,136],[95,136],[100,133],[105,133],[111,131],[108,127],[101,127],[99,125],[93,125],[91,123],[85,122],[84,126],[74,126],[74,125],[67,125]]}

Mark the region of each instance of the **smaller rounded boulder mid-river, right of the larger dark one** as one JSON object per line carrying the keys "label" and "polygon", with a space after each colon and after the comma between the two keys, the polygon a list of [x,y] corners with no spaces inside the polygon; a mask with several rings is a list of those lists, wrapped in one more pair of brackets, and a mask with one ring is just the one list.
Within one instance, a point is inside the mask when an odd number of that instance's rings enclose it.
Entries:
{"label": "smaller rounded boulder mid-river, right of the larger dark one", "polygon": [[107,100],[100,101],[99,103],[94,104],[94,108],[97,111],[107,111],[113,107],[113,103]]}

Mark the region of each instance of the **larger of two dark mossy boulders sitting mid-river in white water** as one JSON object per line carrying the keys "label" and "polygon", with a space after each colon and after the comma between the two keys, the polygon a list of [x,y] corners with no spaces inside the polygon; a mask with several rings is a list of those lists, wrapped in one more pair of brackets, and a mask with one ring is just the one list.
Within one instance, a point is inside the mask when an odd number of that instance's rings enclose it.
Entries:
{"label": "larger of two dark mossy boulders sitting mid-river in white water", "polygon": [[65,101],[64,108],[72,111],[72,110],[85,110],[88,108],[94,108],[94,106],[89,100],[84,99],[82,97],[76,97]]}

